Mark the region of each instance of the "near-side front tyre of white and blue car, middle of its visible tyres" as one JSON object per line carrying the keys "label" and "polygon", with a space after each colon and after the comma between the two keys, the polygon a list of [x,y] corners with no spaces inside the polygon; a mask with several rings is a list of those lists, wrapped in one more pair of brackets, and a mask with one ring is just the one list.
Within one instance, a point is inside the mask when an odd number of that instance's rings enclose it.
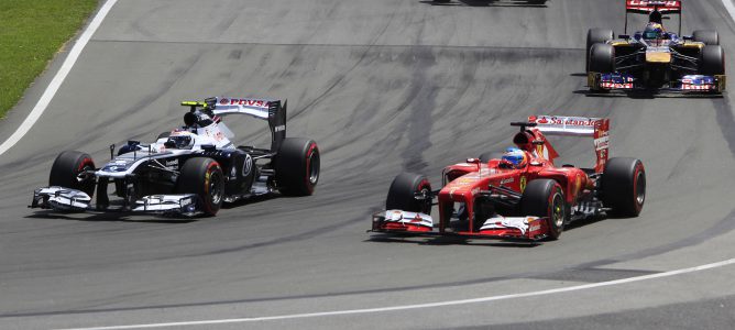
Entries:
{"label": "near-side front tyre of white and blue car, middle of its visible tyres", "polygon": [[215,216],[224,199],[224,175],[220,164],[207,157],[189,158],[176,182],[177,194],[196,194],[206,216]]}

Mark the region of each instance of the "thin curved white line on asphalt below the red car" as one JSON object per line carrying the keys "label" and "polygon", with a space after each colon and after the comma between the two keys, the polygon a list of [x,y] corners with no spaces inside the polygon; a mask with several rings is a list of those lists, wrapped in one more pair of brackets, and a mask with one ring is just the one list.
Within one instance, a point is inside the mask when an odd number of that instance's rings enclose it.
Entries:
{"label": "thin curved white line on asphalt below the red car", "polygon": [[371,314],[371,312],[384,312],[384,311],[396,311],[396,310],[406,310],[406,309],[419,309],[419,308],[431,308],[431,307],[442,307],[442,306],[457,306],[457,305],[467,305],[467,304],[479,304],[479,302],[489,302],[495,300],[506,300],[514,298],[527,298],[534,296],[542,295],[552,295],[561,294],[569,292],[577,292],[583,289],[592,289],[604,286],[613,286],[627,284],[633,282],[640,282],[654,278],[669,277],[674,275],[681,275],[687,273],[700,272],[705,270],[712,270],[717,267],[723,267],[727,265],[735,264],[735,258],[729,258],[726,261],[705,264],[701,266],[695,266],[691,268],[676,270],[665,273],[635,276],[608,282],[592,283],[585,285],[561,287],[548,290],[531,292],[525,294],[514,294],[514,295],[502,295],[502,296],[490,296],[481,297],[474,299],[462,299],[462,300],[449,300],[449,301],[438,301],[429,304],[417,304],[417,305],[403,305],[403,306],[391,306],[391,307],[380,307],[380,308],[363,308],[363,309],[347,309],[347,310],[333,310],[333,311],[322,311],[322,312],[308,312],[308,314],[294,314],[294,315],[282,315],[282,316],[270,316],[270,317],[252,317],[252,318],[237,318],[237,319],[220,319],[220,320],[200,320],[200,321],[183,321],[183,322],[167,322],[167,323],[147,323],[147,324],[130,324],[130,326],[111,326],[111,327],[95,327],[95,328],[75,328],[66,330],[119,330],[119,329],[150,329],[150,328],[163,328],[163,327],[186,327],[186,326],[210,326],[210,324],[223,324],[223,323],[244,323],[244,322],[256,322],[256,321],[273,321],[273,320],[286,320],[286,319],[303,319],[303,318],[315,318],[315,317],[330,317],[330,316],[341,316],[341,315],[355,315],[355,314]]}

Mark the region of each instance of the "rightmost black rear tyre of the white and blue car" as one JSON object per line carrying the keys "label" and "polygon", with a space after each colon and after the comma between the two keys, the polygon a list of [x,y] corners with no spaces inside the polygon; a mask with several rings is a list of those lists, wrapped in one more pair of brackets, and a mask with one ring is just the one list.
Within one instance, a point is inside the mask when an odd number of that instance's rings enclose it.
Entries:
{"label": "rightmost black rear tyre of the white and blue car", "polygon": [[278,191],[309,196],[319,182],[319,147],[314,140],[286,138],[274,157]]}

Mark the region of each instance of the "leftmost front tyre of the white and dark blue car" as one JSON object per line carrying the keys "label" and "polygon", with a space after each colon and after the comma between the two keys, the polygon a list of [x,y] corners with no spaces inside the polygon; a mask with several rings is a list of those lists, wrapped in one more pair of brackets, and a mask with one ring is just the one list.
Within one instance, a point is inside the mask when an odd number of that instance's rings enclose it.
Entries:
{"label": "leftmost front tyre of the white and dark blue car", "polygon": [[59,186],[85,191],[89,197],[95,194],[95,177],[79,182],[77,178],[84,170],[95,169],[95,162],[89,154],[78,151],[65,151],[56,157],[51,166],[48,186]]}

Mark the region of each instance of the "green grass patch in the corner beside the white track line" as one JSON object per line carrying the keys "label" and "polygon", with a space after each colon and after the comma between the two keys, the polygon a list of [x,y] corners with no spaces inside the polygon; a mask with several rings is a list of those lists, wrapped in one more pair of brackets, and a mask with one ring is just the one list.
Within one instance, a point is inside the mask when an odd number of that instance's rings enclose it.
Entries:
{"label": "green grass patch in the corner beside the white track line", "polygon": [[0,118],[97,8],[98,0],[0,0]]}

